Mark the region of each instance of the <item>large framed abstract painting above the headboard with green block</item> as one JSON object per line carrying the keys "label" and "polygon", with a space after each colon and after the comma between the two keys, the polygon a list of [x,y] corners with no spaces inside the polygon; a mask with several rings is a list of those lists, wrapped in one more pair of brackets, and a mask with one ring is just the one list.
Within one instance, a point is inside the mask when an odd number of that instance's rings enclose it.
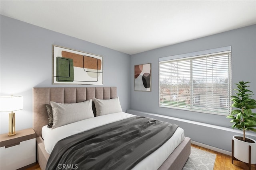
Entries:
{"label": "large framed abstract painting above the headboard with green block", "polygon": [[52,46],[53,84],[103,84],[103,57]]}

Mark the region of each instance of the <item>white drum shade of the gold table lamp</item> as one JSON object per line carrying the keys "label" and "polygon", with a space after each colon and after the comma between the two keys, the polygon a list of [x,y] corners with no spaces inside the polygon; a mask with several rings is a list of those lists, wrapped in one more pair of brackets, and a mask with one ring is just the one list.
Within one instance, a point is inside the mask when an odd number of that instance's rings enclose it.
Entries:
{"label": "white drum shade of the gold table lamp", "polygon": [[0,96],[0,111],[23,109],[23,96]]}

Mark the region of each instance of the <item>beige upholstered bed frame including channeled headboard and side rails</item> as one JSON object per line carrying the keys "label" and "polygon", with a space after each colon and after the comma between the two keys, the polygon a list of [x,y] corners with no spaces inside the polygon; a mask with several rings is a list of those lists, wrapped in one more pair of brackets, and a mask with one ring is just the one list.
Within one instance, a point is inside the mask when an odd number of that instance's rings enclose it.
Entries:
{"label": "beige upholstered bed frame including channeled headboard and side rails", "polygon": [[[33,88],[33,129],[36,132],[36,158],[42,170],[45,170],[50,156],[44,148],[41,130],[48,124],[45,104],[77,103],[92,98],[110,99],[117,97],[116,87],[48,87]],[[95,112],[95,109],[93,108]],[[181,170],[190,155],[190,138],[185,139],[170,154],[158,170]]]}

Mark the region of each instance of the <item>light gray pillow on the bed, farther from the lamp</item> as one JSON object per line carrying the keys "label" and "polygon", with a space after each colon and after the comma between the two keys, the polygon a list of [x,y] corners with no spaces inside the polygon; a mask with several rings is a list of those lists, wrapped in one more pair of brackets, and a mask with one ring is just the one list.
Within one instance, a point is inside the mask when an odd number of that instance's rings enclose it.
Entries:
{"label": "light gray pillow on the bed, farther from the lamp", "polygon": [[93,101],[95,104],[97,116],[122,112],[119,98],[106,99],[106,100],[94,98]]}

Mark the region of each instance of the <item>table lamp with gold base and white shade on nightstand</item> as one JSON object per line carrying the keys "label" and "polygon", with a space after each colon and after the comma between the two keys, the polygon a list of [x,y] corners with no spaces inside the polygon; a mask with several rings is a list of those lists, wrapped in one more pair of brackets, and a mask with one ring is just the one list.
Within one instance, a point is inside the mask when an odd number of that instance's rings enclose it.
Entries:
{"label": "table lamp with gold base and white shade on nightstand", "polygon": [[8,136],[16,134],[14,111],[21,109],[23,109],[23,96],[0,96],[0,111],[11,111],[11,113],[9,113]]}

